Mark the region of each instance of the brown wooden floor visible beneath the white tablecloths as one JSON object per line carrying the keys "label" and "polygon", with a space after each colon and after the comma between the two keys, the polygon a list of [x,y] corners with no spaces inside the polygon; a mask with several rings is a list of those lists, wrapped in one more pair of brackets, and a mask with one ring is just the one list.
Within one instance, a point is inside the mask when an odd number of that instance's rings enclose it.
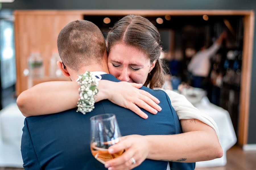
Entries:
{"label": "brown wooden floor visible beneath the white tablecloths", "polygon": [[[244,152],[234,146],[227,152],[227,165],[224,167],[196,168],[195,170],[254,170],[256,169],[256,151]],[[24,170],[21,168],[1,168],[0,170]]]}

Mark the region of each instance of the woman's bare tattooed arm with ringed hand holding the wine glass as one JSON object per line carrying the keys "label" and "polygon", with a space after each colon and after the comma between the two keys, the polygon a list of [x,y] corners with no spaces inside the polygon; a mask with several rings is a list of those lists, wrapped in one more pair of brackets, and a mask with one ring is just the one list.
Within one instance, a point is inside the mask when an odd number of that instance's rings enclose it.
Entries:
{"label": "woman's bare tattooed arm with ringed hand holding the wine glass", "polygon": [[[181,120],[184,133],[176,135],[128,135],[121,137],[119,143],[112,145],[110,154],[125,152],[108,162],[109,170],[133,169],[145,159],[172,162],[198,162],[220,158],[222,148],[215,131],[196,119]],[[131,164],[131,158],[136,163]]]}

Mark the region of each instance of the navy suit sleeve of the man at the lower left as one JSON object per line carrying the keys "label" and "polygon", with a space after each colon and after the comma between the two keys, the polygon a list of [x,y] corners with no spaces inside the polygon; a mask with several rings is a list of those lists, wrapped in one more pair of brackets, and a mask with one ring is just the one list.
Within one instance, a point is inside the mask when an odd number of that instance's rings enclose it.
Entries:
{"label": "navy suit sleeve of the man at the lower left", "polygon": [[25,118],[24,127],[22,129],[21,154],[23,159],[23,167],[25,170],[41,170],[38,158],[36,156],[34,146],[28,129],[28,122]]}

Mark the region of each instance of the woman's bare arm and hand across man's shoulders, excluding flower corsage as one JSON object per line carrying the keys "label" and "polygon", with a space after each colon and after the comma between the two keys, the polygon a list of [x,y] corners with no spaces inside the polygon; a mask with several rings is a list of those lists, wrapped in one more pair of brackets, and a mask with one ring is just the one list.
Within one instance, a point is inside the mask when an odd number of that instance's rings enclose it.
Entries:
{"label": "woman's bare arm and hand across man's shoulders, excluding flower corsage", "polygon": [[[156,114],[160,111],[158,99],[144,90],[142,85],[128,82],[100,80],[96,102],[109,99],[113,103],[134,111],[143,118],[147,115],[139,107]],[[17,105],[26,117],[51,114],[75,108],[79,99],[77,82],[55,81],[40,83],[17,98]],[[125,89],[125,91],[123,90]],[[139,107],[138,107],[139,106]]]}

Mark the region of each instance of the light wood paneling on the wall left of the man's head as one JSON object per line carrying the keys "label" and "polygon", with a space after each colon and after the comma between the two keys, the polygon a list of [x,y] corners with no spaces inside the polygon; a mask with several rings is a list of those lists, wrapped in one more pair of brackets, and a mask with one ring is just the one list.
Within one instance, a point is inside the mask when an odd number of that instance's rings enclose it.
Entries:
{"label": "light wood paneling on the wall left of the man's head", "polygon": [[[44,75],[49,76],[49,59],[57,52],[59,31],[73,20],[83,19],[80,14],[34,14],[15,11],[16,50],[16,94],[28,88],[28,76],[23,74],[28,68],[27,59],[31,52],[39,52],[44,65]],[[69,78],[64,78],[69,80]]]}

